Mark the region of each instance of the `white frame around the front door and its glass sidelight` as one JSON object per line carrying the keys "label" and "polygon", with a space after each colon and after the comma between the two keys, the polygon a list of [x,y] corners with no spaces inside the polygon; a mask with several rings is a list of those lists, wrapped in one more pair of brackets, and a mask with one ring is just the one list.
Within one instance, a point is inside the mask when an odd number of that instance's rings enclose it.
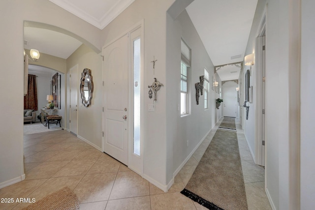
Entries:
{"label": "white frame around the front door and its glass sidelight", "polygon": [[[141,103],[141,120],[140,120],[140,157],[133,154],[133,150],[132,150],[132,145],[133,145],[133,141],[132,141],[132,134],[133,134],[133,69],[131,68],[131,37],[130,37],[130,33],[136,31],[136,30],[141,30],[140,32],[140,48],[141,48],[141,52],[140,52],[140,71],[141,71],[141,96],[140,96],[140,103]],[[132,171],[136,172],[137,174],[139,174],[141,177],[143,177],[143,165],[144,165],[144,20],[139,21],[137,24],[135,24],[134,26],[130,27],[128,30],[126,30],[125,32],[121,33],[120,35],[116,36],[116,38],[114,38],[112,41],[108,42],[107,44],[105,44],[102,49],[106,48],[107,46],[113,44],[115,41],[117,41],[119,38],[123,37],[124,35],[128,35],[128,168],[131,169]],[[102,55],[103,57],[103,55]],[[103,57],[104,60],[104,57]],[[106,95],[106,91],[105,91],[105,70],[104,70],[104,62],[102,62],[102,83],[103,83],[103,98],[102,98],[102,151],[104,151],[104,141],[105,141],[105,129],[104,129],[104,118],[105,118],[105,95]],[[114,157],[115,158],[115,157]]]}

